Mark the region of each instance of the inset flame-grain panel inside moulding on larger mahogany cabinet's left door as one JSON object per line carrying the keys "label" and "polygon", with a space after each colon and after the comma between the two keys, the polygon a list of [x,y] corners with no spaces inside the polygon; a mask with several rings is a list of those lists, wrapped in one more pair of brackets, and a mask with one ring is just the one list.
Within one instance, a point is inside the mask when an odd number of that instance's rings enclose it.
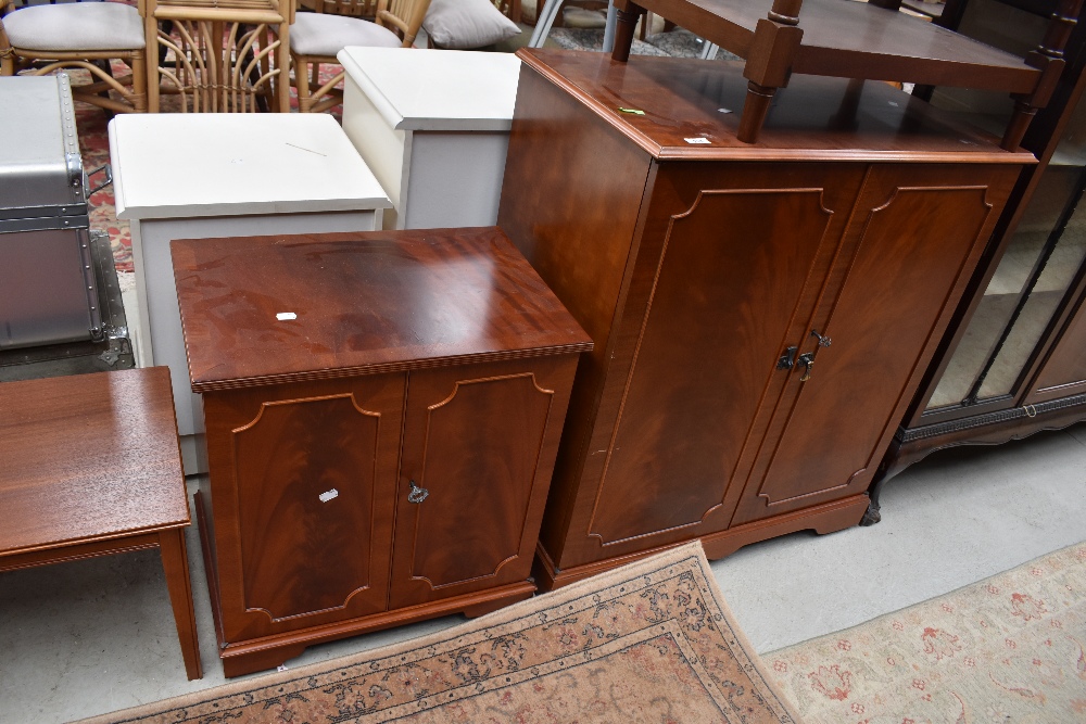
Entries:
{"label": "inset flame-grain panel inside moulding on larger mahogany cabinet's left door", "polygon": [[720,511],[836,243],[823,203],[820,188],[706,190],[672,217],[589,526],[603,546]]}

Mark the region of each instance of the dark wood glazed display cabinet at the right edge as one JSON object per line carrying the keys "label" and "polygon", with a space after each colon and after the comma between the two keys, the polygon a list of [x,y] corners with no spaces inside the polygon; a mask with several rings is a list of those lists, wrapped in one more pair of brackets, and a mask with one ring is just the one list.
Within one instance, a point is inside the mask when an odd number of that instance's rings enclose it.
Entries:
{"label": "dark wood glazed display cabinet at the right edge", "polygon": [[[1052,2],[948,2],[940,23],[1026,53]],[[998,444],[1086,419],[1086,64],[1079,23],[1052,101],[1023,147],[1039,163],[1023,172],[939,352],[872,488],[867,523],[880,519],[882,485],[930,453]],[[919,89],[932,103],[996,130],[1006,99]]]}

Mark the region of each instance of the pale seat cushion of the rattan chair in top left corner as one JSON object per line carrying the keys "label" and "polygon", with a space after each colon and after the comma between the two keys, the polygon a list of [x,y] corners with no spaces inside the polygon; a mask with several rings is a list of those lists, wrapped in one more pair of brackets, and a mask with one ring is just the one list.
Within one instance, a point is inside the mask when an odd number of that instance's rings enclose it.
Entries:
{"label": "pale seat cushion of the rattan chair in top left corner", "polygon": [[72,2],[34,5],[3,18],[8,38],[24,50],[137,50],[143,21],[130,5],[117,2]]}

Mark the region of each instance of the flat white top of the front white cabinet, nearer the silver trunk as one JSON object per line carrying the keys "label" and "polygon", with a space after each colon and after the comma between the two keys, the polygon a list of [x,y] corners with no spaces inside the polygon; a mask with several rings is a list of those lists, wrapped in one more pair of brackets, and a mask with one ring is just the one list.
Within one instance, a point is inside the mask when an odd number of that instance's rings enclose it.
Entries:
{"label": "flat white top of the front white cabinet, nearer the silver trunk", "polygon": [[123,219],[392,206],[324,114],[118,115],[110,122],[110,156]]}

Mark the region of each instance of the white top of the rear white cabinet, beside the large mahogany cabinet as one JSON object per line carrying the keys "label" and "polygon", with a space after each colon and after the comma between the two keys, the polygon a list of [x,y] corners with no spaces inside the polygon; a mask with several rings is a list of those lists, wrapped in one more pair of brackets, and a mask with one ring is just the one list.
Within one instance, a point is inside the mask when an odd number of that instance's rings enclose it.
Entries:
{"label": "white top of the rear white cabinet, beside the large mahogany cabinet", "polygon": [[508,130],[520,59],[512,53],[344,48],[348,76],[400,130]]}

